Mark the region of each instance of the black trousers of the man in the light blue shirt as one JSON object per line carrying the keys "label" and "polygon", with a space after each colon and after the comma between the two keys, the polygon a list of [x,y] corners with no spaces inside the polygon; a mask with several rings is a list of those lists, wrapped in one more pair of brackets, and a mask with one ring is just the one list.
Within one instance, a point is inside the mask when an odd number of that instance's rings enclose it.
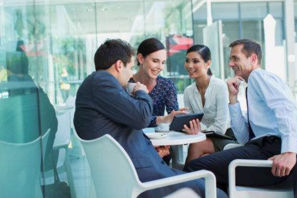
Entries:
{"label": "black trousers of the man in the light blue shirt", "polygon": [[[268,159],[281,153],[281,139],[275,136],[262,137],[247,142],[242,147],[223,150],[194,159],[186,164],[184,171],[209,170],[217,179],[217,187],[226,191],[228,185],[228,166],[234,159]],[[294,197],[297,198],[297,165],[290,172],[293,175]],[[285,181],[288,176],[275,177],[270,167],[237,167],[236,184],[259,187]]]}

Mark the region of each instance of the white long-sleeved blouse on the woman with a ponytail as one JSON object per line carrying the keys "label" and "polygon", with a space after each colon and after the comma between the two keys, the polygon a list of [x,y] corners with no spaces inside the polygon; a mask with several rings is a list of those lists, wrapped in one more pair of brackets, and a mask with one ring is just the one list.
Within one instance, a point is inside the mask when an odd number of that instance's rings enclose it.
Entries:
{"label": "white long-sleeved blouse on the woman with a ponytail", "polygon": [[200,122],[201,130],[225,134],[227,127],[230,126],[227,84],[221,79],[211,77],[204,98],[203,107],[196,82],[185,89],[185,107],[188,107],[191,113],[204,113]]}

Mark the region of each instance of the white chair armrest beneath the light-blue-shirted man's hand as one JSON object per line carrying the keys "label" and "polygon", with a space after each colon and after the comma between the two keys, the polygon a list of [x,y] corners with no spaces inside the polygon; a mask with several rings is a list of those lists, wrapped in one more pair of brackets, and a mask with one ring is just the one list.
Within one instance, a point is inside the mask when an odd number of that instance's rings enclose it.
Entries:
{"label": "white chair armrest beneath the light-blue-shirted man's hand", "polygon": [[[235,159],[229,164],[229,192],[234,192],[236,187],[235,169],[237,166],[272,167],[270,160]],[[230,196],[231,197],[231,196]]]}

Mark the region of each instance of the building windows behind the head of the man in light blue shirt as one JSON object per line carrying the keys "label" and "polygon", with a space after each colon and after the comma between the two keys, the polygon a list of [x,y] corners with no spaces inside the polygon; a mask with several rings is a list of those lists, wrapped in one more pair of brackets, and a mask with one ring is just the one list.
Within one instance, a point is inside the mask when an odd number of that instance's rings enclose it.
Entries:
{"label": "building windows behind the head of the man in light blue shirt", "polygon": [[[229,44],[236,39],[249,38],[262,44],[265,54],[265,38],[263,19],[271,14],[276,20],[275,45],[283,46],[284,40],[284,14],[283,2],[214,2],[211,3],[213,21],[222,21],[222,39],[224,51],[225,79],[233,76],[228,68]],[[206,4],[203,4],[193,14],[195,26],[195,41],[202,42],[202,29],[206,25]],[[198,28],[200,27],[200,28]],[[202,38],[201,38],[202,37]],[[200,38],[200,39],[196,39]],[[265,58],[262,67],[265,68]]]}

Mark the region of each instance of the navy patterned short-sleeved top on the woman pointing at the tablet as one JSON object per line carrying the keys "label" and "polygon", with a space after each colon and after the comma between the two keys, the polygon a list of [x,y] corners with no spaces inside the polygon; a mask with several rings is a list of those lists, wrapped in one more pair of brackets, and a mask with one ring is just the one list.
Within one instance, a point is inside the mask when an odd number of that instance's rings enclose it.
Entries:
{"label": "navy patterned short-sleeved top on the woman pointing at the tablet", "polygon": [[[135,83],[131,78],[129,82]],[[153,102],[152,119],[148,127],[155,127],[157,116],[163,116],[166,111],[169,114],[172,110],[179,110],[177,102],[177,92],[172,80],[164,78],[162,76],[157,77],[157,84],[148,93]]]}

